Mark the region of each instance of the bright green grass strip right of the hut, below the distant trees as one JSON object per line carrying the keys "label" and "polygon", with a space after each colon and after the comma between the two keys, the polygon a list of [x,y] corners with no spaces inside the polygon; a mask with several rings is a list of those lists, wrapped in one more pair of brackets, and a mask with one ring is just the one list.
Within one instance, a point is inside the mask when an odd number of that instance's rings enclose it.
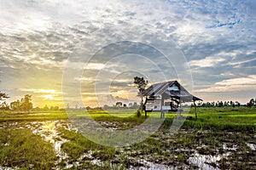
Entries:
{"label": "bright green grass strip right of the hut, below the distant trees", "polygon": [[186,120],[183,127],[214,130],[251,131],[256,130],[256,108],[199,108],[197,120]]}

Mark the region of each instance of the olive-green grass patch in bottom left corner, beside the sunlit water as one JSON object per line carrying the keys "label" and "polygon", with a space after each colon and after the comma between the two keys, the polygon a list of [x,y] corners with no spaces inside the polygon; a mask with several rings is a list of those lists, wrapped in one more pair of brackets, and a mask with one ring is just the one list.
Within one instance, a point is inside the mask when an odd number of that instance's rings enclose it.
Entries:
{"label": "olive-green grass patch in bottom left corner, beside the sunlit water", "polygon": [[23,169],[55,167],[55,151],[29,129],[0,129],[0,165]]}

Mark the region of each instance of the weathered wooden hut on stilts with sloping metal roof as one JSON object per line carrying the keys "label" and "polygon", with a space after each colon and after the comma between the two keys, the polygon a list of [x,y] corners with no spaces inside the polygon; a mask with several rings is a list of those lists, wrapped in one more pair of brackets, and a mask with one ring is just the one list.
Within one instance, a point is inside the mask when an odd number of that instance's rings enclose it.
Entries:
{"label": "weathered wooden hut on stilts with sloping metal roof", "polygon": [[145,101],[143,107],[145,116],[148,112],[154,111],[160,112],[161,118],[165,117],[166,112],[177,112],[177,116],[181,116],[182,109],[180,106],[184,102],[194,103],[195,118],[197,118],[195,101],[202,100],[189,94],[177,81],[153,84],[143,91],[141,97]]}

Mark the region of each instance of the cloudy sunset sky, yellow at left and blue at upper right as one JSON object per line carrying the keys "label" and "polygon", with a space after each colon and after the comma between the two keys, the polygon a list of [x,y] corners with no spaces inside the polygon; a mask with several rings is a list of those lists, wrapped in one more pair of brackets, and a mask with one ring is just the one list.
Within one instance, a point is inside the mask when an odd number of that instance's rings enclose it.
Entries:
{"label": "cloudy sunset sky, yellow at left and blue at upper right", "polygon": [[[133,77],[207,101],[256,92],[254,0],[0,0],[0,90],[34,106],[137,101]],[[65,100],[64,99],[64,100]]]}

